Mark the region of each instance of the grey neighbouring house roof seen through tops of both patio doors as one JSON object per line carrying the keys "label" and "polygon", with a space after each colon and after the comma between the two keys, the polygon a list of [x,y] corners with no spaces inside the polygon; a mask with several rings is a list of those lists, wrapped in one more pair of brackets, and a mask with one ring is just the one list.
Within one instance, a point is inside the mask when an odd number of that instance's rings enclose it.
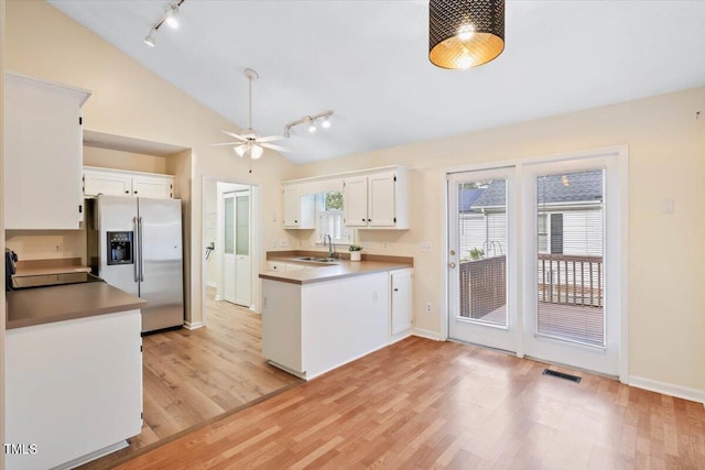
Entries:
{"label": "grey neighbouring house roof seen through tops of both patio doors", "polygon": [[[539,203],[543,204],[599,201],[603,199],[603,172],[540,177],[536,182],[536,190]],[[460,212],[505,206],[507,185],[503,179],[497,179],[485,189],[460,189],[459,203]]]}

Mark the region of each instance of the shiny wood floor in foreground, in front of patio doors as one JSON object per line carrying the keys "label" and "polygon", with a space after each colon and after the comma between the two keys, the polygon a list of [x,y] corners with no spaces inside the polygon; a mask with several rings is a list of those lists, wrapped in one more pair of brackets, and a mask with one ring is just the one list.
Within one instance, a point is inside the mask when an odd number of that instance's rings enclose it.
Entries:
{"label": "shiny wood floor in foreground, in front of patio doors", "polygon": [[119,469],[704,469],[702,404],[408,338]]}

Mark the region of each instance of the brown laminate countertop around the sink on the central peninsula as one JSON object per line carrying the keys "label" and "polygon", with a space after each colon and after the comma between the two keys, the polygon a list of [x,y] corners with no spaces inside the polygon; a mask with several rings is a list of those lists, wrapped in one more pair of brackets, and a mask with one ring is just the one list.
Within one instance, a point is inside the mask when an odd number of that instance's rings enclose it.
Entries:
{"label": "brown laminate countertop around the sink on the central peninsula", "polygon": [[295,259],[296,256],[268,255],[268,261],[303,264],[311,269],[295,271],[268,271],[260,273],[260,278],[286,282],[291,284],[311,284],[326,282],[341,277],[372,274],[384,271],[413,267],[413,258],[379,256],[378,260],[349,261],[337,260],[335,264],[308,263]]}

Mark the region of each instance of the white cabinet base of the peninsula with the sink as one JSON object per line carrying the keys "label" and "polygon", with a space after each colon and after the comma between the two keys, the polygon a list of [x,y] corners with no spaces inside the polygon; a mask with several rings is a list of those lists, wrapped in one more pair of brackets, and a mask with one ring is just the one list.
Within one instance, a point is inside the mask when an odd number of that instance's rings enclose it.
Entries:
{"label": "white cabinet base of the peninsula with the sink", "polygon": [[262,280],[262,354],[313,379],[389,343],[389,274],[311,284]]}

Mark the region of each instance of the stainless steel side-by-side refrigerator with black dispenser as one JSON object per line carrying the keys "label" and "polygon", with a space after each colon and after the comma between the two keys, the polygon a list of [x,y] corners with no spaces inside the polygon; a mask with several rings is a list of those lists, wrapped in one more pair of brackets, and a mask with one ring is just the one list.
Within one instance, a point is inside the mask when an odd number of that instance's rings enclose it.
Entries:
{"label": "stainless steel side-by-side refrigerator with black dispenser", "polygon": [[94,273],[148,302],[142,332],[182,326],[181,200],[99,195],[93,206],[88,252]]}

